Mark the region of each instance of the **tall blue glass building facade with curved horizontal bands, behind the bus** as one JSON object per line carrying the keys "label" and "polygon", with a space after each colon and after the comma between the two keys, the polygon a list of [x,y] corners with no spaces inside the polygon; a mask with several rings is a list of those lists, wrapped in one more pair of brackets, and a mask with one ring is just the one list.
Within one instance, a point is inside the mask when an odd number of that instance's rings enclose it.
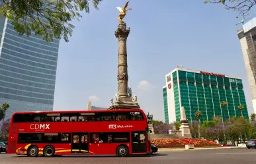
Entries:
{"label": "tall blue glass building facade with curved horizontal bands, behind the bus", "polygon": [[3,16],[0,33],[0,103],[10,104],[5,118],[15,111],[52,111],[60,40],[19,36]]}

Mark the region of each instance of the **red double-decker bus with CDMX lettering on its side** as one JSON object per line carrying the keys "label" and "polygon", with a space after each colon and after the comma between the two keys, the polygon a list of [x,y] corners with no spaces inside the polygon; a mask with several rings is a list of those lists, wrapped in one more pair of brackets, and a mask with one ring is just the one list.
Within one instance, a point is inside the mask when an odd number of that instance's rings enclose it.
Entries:
{"label": "red double-decker bus with CDMX lettering on its side", "polygon": [[151,153],[141,109],[17,112],[11,118],[7,153],[132,155]]}

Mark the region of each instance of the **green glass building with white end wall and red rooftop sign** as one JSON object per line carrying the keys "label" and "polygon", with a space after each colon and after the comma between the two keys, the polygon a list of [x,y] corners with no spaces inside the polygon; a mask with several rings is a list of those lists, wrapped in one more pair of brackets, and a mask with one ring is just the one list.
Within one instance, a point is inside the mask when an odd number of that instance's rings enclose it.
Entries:
{"label": "green glass building with white end wall and red rooftop sign", "polygon": [[[180,109],[185,107],[189,121],[196,121],[194,113],[201,111],[200,121],[210,121],[222,117],[224,121],[230,117],[243,115],[249,119],[243,83],[241,78],[175,68],[165,75],[163,86],[165,123],[179,121]],[[222,102],[226,105],[222,106]],[[238,106],[243,105],[240,111]]]}

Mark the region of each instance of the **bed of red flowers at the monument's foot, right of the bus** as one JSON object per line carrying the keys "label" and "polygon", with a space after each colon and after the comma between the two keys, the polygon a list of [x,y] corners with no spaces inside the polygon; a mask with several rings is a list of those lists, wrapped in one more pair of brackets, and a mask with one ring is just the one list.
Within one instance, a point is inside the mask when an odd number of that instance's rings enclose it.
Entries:
{"label": "bed of red flowers at the monument's foot, right of the bus", "polygon": [[215,142],[201,140],[201,139],[155,139],[150,140],[151,144],[157,146],[157,148],[185,148],[185,145],[194,145],[194,147],[214,147],[220,146]]}

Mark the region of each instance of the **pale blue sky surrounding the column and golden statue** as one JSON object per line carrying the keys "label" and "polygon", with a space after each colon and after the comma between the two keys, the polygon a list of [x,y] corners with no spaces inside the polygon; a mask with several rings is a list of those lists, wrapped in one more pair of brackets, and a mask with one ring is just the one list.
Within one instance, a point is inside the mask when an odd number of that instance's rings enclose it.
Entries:
{"label": "pale blue sky surrounding the column and golden statue", "polygon": [[[69,42],[60,41],[54,111],[108,107],[117,90],[118,42],[116,19],[126,0],[104,0],[99,11],[82,13]],[[128,86],[138,95],[141,109],[164,120],[165,74],[176,65],[239,76],[249,113],[253,112],[249,84],[236,26],[240,17],[223,5],[204,0],[130,0],[124,22],[127,40]],[[255,13],[251,13],[255,16]],[[249,18],[249,17],[248,17]]]}

